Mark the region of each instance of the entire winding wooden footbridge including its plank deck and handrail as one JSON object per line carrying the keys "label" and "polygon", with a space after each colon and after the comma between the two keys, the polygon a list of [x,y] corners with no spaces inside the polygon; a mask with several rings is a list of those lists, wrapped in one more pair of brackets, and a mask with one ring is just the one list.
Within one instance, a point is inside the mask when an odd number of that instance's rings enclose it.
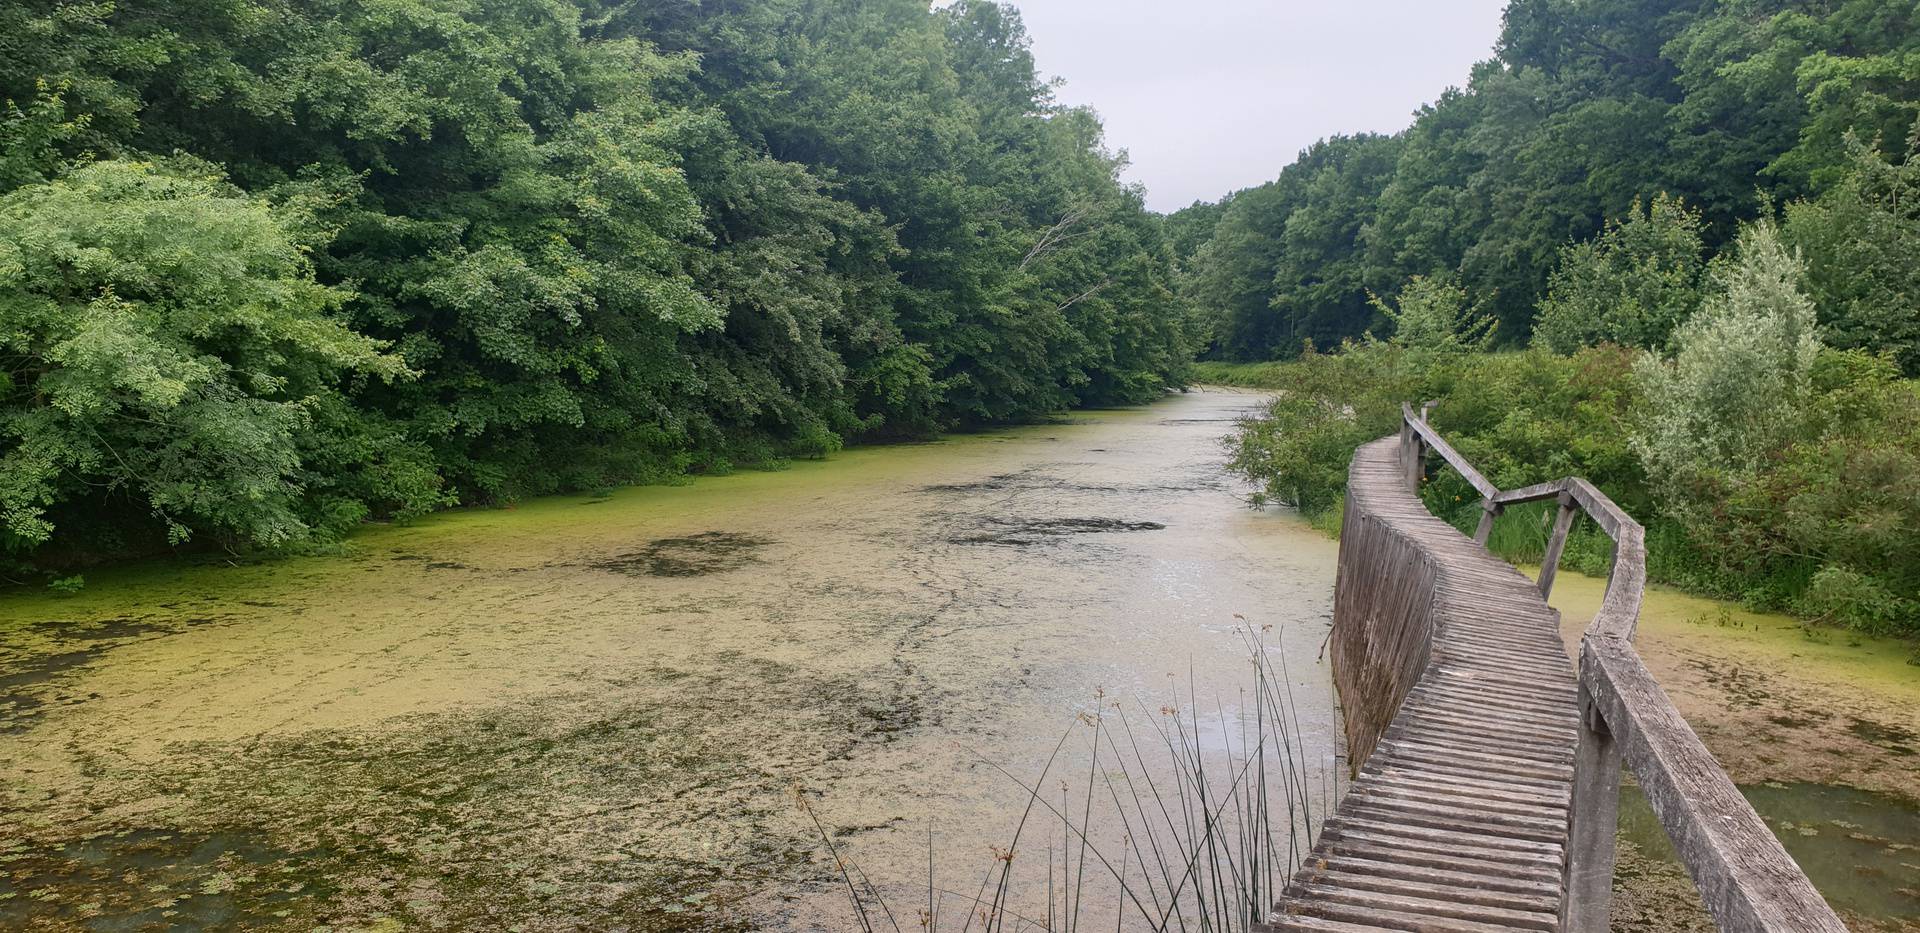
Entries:
{"label": "entire winding wooden footbridge including its plank deck and handrail", "polygon": [[[1428,453],[1482,495],[1475,538],[1419,497]],[[1511,505],[1557,501],[1540,580],[1492,557]],[[1572,522],[1615,543],[1578,670],[1548,593]],[[1348,476],[1334,683],[1352,789],[1269,918],[1286,931],[1607,929],[1630,766],[1720,929],[1845,927],[1634,651],[1642,528],[1580,478],[1501,491],[1404,407]]]}

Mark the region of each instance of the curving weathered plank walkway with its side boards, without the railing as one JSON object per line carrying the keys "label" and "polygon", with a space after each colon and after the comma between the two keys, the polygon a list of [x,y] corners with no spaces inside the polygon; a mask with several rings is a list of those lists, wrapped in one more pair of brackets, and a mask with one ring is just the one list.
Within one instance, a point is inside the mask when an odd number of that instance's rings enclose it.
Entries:
{"label": "curving weathered plank walkway with its side boards, without the railing", "polygon": [[1434,518],[1407,470],[1394,438],[1354,457],[1342,536],[1400,591],[1356,593],[1379,584],[1357,582],[1342,545],[1336,605],[1352,616],[1336,609],[1334,664],[1365,764],[1269,921],[1555,931],[1578,739],[1559,620],[1538,584]]}

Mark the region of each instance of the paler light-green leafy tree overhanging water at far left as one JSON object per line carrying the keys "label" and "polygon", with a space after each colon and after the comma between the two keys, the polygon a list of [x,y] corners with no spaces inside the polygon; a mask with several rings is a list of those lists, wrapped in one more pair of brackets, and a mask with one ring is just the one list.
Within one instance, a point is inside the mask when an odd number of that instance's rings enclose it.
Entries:
{"label": "paler light-green leafy tree overhanging water at far left", "polygon": [[[0,516],[13,551],[90,509],[282,547],[340,532],[305,497],[342,378],[405,382],[351,332],[351,294],[313,280],[313,219],[205,165],[100,161],[0,196]],[[401,509],[440,503],[405,445],[338,468],[386,470]],[[351,514],[357,520],[359,514]]]}

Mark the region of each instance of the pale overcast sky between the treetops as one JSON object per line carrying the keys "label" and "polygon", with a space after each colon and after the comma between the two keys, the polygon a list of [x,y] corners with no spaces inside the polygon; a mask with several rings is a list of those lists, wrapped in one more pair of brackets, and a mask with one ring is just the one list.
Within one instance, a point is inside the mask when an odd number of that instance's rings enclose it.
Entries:
{"label": "pale overcast sky between the treetops", "polygon": [[1014,0],[1043,75],[1173,211],[1271,180],[1321,136],[1394,132],[1492,58],[1505,0]]}

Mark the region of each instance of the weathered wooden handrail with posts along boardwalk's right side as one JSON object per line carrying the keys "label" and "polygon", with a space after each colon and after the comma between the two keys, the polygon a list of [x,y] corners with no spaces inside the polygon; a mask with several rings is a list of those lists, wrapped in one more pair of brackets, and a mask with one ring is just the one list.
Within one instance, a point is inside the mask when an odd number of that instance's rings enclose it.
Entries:
{"label": "weathered wooden handrail with posts along boardwalk's right side", "polygon": [[1428,451],[1453,466],[1480,491],[1482,513],[1475,541],[1484,545],[1494,518],[1511,505],[1546,499],[1559,503],[1540,564],[1542,599],[1553,591],[1553,574],[1580,514],[1613,538],[1607,593],[1580,637],[1580,745],[1574,753],[1561,929],[1607,929],[1624,762],[1640,779],[1720,929],[1843,933],[1847,927],[1740,795],[1699,735],[1680,718],[1634,651],[1634,628],[1647,582],[1640,522],[1578,476],[1500,490],[1434,432],[1427,420],[1432,405],[1428,401],[1419,413],[1402,405],[1400,445],[1407,482],[1419,490]]}

